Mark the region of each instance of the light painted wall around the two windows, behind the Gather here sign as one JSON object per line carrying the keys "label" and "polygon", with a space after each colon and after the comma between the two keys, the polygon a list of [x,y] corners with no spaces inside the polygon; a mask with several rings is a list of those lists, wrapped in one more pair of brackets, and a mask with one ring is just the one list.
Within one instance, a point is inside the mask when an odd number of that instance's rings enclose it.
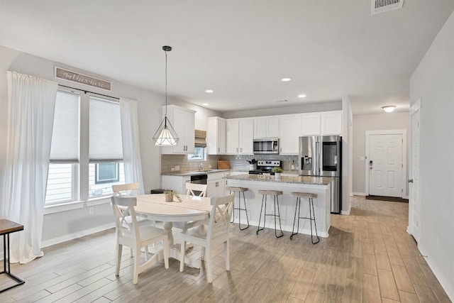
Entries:
{"label": "light painted wall around the two windows, behind the Gather here sign", "polygon": [[[102,75],[95,75],[92,72],[78,70],[61,63],[45,60],[41,57],[35,57],[16,50],[4,48],[0,45],[0,172],[4,168],[6,149],[6,126],[8,121],[8,93],[6,87],[6,70],[13,70],[27,75],[34,75],[43,79],[49,79],[70,87],[87,89],[91,92],[99,92],[111,97],[125,97],[138,101],[138,119],[140,131],[140,156],[143,167],[143,183],[145,192],[150,189],[161,187],[161,156],[160,148],[155,147],[152,136],[157,127],[160,125],[161,109],[165,104],[165,97],[162,94],[132,87],[131,85],[110,79],[112,82],[112,92],[106,92],[95,87],[86,87],[77,83],[67,82],[62,79],[55,79],[54,66],[66,67],[69,70],[82,72],[86,75],[93,75],[101,79],[106,79]],[[208,116],[219,116],[216,111],[203,109],[194,104],[188,104],[184,101],[170,98],[169,104],[179,104],[197,111],[196,128],[206,130]],[[3,175],[0,173],[0,175]],[[1,181],[1,180],[0,180]],[[1,182],[4,184],[4,182]],[[106,199],[109,202],[109,199]],[[89,207],[94,207],[94,214],[89,215]],[[43,243],[45,245],[60,241],[66,241],[70,238],[83,236],[97,230],[102,230],[106,226],[114,226],[112,210],[109,204],[91,205],[84,202],[81,209],[59,212],[55,214],[46,214],[43,224]]]}

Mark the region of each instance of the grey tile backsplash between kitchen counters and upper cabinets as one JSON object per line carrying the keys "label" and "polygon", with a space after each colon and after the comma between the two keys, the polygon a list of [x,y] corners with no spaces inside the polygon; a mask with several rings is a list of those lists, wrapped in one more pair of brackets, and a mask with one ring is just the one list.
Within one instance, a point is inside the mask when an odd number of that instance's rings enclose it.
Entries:
{"label": "grey tile backsplash between kitchen counters and upper cabinets", "polygon": [[[204,169],[218,168],[218,160],[230,161],[230,167],[233,170],[249,170],[249,163],[246,160],[280,160],[282,162],[282,169],[290,171],[292,161],[298,169],[298,156],[297,155],[208,155],[206,161],[188,161],[187,155],[162,155],[161,172],[168,173],[173,171],[190,172],[199,170],[199,165],[202,163]],[[210,167],[211,165],[211,167]],[[175,167],[179,166],[179,170]],[[172,170],[172,167],[174,170]]]}

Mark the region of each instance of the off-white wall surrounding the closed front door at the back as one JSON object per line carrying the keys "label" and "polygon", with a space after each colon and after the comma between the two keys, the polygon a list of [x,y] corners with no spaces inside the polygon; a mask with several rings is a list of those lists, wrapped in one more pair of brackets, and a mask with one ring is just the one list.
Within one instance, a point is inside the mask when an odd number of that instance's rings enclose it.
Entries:
{"label": "off-white wall surrounding the closed front door at the back", "polygon": [[[365,167],[367,160],[360,160],[366,155],[366,131],[383,131],[406,129],[406,175],[409,175],[410,148],[410,114],[383,113],[369,115],[353,115],[353,194],[365,194]],[[405,184],[408,193],[408,184]]]}

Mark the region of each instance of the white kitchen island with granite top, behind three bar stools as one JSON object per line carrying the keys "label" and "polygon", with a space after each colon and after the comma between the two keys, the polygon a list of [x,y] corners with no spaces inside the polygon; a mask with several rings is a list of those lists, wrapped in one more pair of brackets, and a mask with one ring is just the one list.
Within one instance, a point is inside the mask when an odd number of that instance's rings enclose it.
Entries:
{"label": "white kitchen island with granite top, behind three bar stools", "polygon": [[[279,209],[284,236],[290,236],[294,222],[296,199],[291,192],[310,192],[318,194],[314,199],[314,211],[317,224],[317,232],[321,237],[328,237],[328,229],[331,221],[331,178],[330,177],[306,177],[306,176],[282,176],[278,179],[273,175],[231,175],[225,177],[229,187],[248,187],[245,192],[246,208],[248,209],[249,223],[258,226],[260,207],[262,206],[262,195],[258,193],[260,189],[282,190],[283,194],[279,196]],[[242,195],[243,198],[243,195]],[[238,199],[238,198],[236,198]],[[236,203],[237,200],[236,200]],[[268,197],[267,211],[272,210],[272,197]],[[241,203],[243,206],[243,202]],[[245,224],[244,211],[241,214],[241,224]],[[301,199],[301,216],[309,217],[309,202],[307,199]],[[263,216],[262,216],[263,220]],[[235,211],[234,222],[238,224],[238,211]],[[262,226],[263,221],[260,222]],[[279,223],[277,223],[279,228]],[[295,224],[295,228],[297,224]],[[265,227],[275,228],[275,223],[270,216],[267,216]],[[301,219],[299,222],[299,233],[311,234],[309,220]],[[260,234],[259,234],[260,236]],[[294,237],[294,240],[298,237]]]}

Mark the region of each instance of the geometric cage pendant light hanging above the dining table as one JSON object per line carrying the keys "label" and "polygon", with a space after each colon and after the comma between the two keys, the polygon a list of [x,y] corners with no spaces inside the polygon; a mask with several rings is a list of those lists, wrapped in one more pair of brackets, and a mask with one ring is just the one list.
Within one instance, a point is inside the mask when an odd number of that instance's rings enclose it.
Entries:
{"label": "geometric cage pendant light hanging above the dining table", "polygon": [[156,141],[156,146],[173,146],[178,144],[179,138],[169,119],[167,119],[167,52],[170,52],[172,47],[164,45],[162,50],[165,53],[165,116],[159,128],[157,128],[153,140]]}

